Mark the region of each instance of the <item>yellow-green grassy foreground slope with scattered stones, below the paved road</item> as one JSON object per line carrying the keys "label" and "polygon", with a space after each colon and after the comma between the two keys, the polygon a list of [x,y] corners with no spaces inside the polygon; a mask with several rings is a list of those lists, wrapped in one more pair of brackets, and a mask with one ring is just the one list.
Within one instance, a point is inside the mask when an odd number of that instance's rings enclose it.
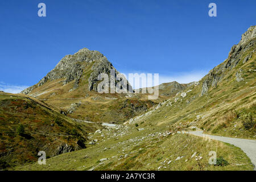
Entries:
{"label": "yellow-green grassy foreground slope with scattered stones, below the paved road", "polygon": [[[250,159],[240,148],[216,141],[204,140],[187,134],[174,134],[163,137],[167,126],[124,127],[118,131],[102,131],[93,134],[91,139],[99,139],[96,146],[84,150],[61,154],[47,159],[46,165],[34,163],[16,167],[15,170],[253,170]],[[122,137],[113,134],[125,133]],[[208,164],[209,151],[216,151],[228,161],[228,166]],[[202,159],[196,160],[196,156]],[[180,160],[177,157],[183,156]],[[108,158],[108,160],[100,161]],[[171,160],[171,162],[170,162]],[[168,164],[168,162],[170,162]],[[162,166],[161,168],[159,168]]]}

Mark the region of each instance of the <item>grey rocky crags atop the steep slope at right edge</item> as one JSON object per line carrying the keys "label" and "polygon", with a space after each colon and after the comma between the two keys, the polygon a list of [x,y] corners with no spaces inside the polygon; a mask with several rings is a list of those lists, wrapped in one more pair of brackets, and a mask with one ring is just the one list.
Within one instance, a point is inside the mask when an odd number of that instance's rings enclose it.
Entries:
{"label": "grey rocky crags atop the steep slope at right edge", "polygon": [[[227,72],[231,71],[233,68],[236,68],[237,65],[241,62],[242,64],[246,63],[247,60],[251,58],[254,50],[251,50],[256,44],[256,26],[251,26],[243,35],[241,41],[234,45],[230,52],[228,59],[224,63],[213,68],[206,76],[203,82],[201,96],[208,92],[210,87],[216,87],[218,82],[224,78]],[[246,52],[249,52],[248,54]],[[242,81],[241,76],[242,70],[237,71],[237,81]]]}

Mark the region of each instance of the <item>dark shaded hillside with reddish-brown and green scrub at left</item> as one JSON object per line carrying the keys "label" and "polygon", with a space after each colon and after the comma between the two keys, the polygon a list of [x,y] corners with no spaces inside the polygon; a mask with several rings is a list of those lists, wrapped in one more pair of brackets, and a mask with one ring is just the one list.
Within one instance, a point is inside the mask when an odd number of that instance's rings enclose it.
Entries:
{"label": "dark shaded hillside with reddish-brown and green scrub at left", "polygon": [[[24,126],[22,135],[16,131],[19,125]],[[34,162],[40,150],[46,151],[48,157],[54,156],[57,147],[63,143],[81,149],[77,140],[86,140],[87,133],[96,127],[74,123],[35,98],[0,93],[1,166]]]}

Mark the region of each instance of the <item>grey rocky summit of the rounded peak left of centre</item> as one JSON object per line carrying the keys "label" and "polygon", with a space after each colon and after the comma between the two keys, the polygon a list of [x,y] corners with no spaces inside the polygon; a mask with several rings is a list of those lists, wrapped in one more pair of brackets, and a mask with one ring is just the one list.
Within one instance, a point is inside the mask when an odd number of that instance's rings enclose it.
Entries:
{"label": "grey rocky summit of the rounded peak left of centre", "polygon": [[[65,78],[62,81],[63,85],[68,84],[71,81],[74,81],[73,89],[75,90],[79,86],[80,79],[85,70],[84,64],[93,64],[92,73],[88,79],[89,91],[97,91],[97,78],[100,73],[110,74],[110,69],[114,69],[115,75],[119,72],[113,67],[112,63],[106,59],[102,53],[98,51],[90,51],[87,48],[83,48],[80,51],[76,52],[74,55],[67,55],[60,60],[51,72],[49,72],[45,77],[38,82],[38,84],[33,85],[22,91],[24,94],[29,94],[35,88],[44,85],[47,81],[53,81],[60,78]],[[130,86],[130,84],[128,83]]]}

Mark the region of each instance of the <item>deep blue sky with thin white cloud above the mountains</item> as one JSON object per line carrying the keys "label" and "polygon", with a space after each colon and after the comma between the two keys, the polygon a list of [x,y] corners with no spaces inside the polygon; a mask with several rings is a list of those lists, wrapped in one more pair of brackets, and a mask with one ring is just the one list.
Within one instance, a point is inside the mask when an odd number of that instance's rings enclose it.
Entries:
{"label": "deep blue sky with thin white cloud above the mountains", "polygon": [[[38,16],[40,2],[46,17]],[[208,16],[211,2],[217,17]],[[255,7],[255,0],[0,1],[0,90],[36,84],[84,47],[103,53],[122,73],[199,80],[255,25]]]}

